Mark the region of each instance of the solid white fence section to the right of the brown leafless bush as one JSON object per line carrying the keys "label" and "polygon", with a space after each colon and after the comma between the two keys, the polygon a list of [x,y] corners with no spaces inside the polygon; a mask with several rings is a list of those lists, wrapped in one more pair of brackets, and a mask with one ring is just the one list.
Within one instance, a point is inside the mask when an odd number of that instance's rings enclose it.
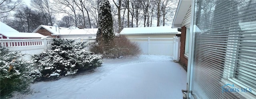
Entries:
{"label": "solid white fence section to the right of the brown leafless bush", "polygon": [[140,46],[142,54],[174,55],[173,38],[128,38]]}

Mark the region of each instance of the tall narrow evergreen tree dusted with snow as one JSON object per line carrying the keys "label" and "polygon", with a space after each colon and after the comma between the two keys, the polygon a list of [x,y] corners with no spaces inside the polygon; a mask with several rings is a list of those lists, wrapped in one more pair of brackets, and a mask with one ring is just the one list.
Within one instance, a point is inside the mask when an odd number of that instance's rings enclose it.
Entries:
{"label": "tall narrow evergreen tree dusted with snow", "polygon": [[110,41],[114,39],[113,19],[111,14],[111,6],[108,0],[100,2],[98,20],[98,31],[96,42],[98,44],[110,45]]}

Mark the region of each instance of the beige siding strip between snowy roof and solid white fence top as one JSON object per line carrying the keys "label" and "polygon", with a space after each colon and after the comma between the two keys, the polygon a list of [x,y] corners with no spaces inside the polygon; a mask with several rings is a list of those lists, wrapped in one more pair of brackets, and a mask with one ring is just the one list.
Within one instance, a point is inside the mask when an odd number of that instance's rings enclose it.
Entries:
{"label": "beige siding strip between snowy roof and solid white fence top", "polygon": [[172,38],[175,34],[125,35],[127,38]]}

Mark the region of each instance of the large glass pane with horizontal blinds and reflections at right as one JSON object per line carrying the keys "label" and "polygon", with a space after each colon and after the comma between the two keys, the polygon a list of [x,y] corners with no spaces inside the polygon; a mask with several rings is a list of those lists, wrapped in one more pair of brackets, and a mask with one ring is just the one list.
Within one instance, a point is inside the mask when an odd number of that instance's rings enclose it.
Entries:
{"label": "large glass pane with horizontal blinds and reflections at right", "polygon": [[192,91],[256,98],[256,0],[196,0]]}

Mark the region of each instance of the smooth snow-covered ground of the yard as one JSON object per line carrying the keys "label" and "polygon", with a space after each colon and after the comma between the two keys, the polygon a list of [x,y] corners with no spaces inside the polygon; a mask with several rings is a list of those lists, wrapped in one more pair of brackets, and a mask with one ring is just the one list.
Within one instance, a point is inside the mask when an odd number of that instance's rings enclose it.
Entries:
{"label": "smooth snow-covered ground of the yard", "polygon": [[186,71],[170,56],[140,55],[106,59],[90,74],[31,85],[32,93],[12,99],[182,99]]}

